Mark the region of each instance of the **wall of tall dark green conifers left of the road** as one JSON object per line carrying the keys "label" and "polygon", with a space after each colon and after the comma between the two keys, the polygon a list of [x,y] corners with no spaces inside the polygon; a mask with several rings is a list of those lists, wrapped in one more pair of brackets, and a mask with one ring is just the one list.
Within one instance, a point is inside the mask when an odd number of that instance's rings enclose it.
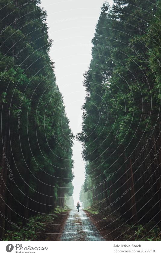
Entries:
{"label": "wall of tall dark green conifers left of the road", "polygon": [[73,134],[39,4],[0,0],[1,239],[30,216],[45,218],[54,207],[73,203]]}

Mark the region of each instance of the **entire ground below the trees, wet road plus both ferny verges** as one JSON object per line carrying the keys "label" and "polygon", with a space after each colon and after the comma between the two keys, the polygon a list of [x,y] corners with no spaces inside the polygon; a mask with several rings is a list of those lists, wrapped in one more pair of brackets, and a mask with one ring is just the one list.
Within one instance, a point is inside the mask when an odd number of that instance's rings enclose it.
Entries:
{"label": "entire ground below the trees, wet road plus both ferny verges", "polygon": [[[101,207],[102,208],[102,207]],[[99,211],[56,207],[46,215],[30,217],[26,226],[8,230],[4,241],[161,241],[159,223],[125,223],[117,209]]]}

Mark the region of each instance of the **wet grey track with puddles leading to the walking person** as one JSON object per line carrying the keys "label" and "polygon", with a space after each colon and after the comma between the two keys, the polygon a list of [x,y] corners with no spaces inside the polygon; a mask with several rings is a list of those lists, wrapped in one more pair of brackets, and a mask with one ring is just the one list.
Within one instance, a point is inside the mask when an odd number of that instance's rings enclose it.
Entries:
{"label": "wet grey track with puddles leading to the walking person", "polygon": [[60,241],[105,241],[83,210],[71,210]]}

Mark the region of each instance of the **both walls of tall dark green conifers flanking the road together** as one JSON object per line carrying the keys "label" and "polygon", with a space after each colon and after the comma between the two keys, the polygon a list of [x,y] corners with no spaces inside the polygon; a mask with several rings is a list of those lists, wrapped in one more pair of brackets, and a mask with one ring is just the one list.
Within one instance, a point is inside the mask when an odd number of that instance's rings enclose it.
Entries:
{"label": "both walls of tall dark green conifers flanking the road together", "polygon": [[[74,204],[74,136],[39,4],[0,0],[0,239],[4,230],[16,232],[5,219],[24,227],[38,213],[42,221],[55,207]],[[84,74],[80,200],[84,208],[116,207],[125,223],[157,225],[161,219],[160,10],[161,0],[103,4]]]}

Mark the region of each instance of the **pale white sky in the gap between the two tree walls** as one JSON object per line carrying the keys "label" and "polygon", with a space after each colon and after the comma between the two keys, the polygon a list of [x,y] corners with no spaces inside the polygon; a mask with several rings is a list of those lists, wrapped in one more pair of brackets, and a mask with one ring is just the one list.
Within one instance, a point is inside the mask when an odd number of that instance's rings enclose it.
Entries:
{"label": "pale white sky in the gap between the two tree walls", "polygon": [[[74,135],[81,131],[82,105],[86,95],[83,74],[91,60],[91,40],[105,0],[42,0],[47,11],[49,38],[53,40],[50,57],[55,62],[57,85],[63,95],[65,111]],[[112,5],[112,0],[107,1]],[[82,146],[74,141],[74,203],[79,200],[85,179]]]}

